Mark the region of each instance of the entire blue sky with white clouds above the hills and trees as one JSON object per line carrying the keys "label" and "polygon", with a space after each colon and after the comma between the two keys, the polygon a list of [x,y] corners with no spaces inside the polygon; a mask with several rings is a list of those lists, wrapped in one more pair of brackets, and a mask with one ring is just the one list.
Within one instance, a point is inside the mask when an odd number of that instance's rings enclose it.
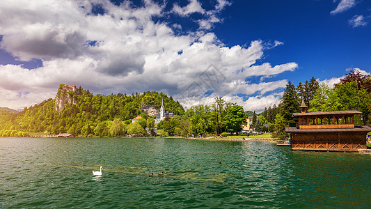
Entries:
{"label": "entire blue sky with white clouds above the hills and trees", "polygon": [[352,70],[371,72],[368,0],[0,1],[0,107],[76,84],[261,112],[288,81],[331,87]]}

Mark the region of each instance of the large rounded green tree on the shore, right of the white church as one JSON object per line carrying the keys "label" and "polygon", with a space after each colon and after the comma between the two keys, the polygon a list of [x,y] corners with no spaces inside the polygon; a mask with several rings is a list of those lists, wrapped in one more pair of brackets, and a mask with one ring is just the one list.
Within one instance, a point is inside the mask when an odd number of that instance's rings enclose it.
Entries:
{"label": "large rounded green tree on the shore, right of the white church", "polygon": [[224,116],[224,121],[229,132],[240,132],[242,124],[246,124],[244,108],[236,104],[233,105]]}

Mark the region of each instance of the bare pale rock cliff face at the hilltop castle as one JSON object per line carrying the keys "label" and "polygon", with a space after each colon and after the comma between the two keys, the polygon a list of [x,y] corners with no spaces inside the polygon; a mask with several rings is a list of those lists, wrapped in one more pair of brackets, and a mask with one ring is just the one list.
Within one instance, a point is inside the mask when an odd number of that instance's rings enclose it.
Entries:
{"label": "bare pale rock cliff face at the hilltop castle", "polygon": [[76,86],[60,85],[56,93],[56,111],[61,111],[65,104],[77,104],[77,99],[74,94],[80,94],[80,90]]}

